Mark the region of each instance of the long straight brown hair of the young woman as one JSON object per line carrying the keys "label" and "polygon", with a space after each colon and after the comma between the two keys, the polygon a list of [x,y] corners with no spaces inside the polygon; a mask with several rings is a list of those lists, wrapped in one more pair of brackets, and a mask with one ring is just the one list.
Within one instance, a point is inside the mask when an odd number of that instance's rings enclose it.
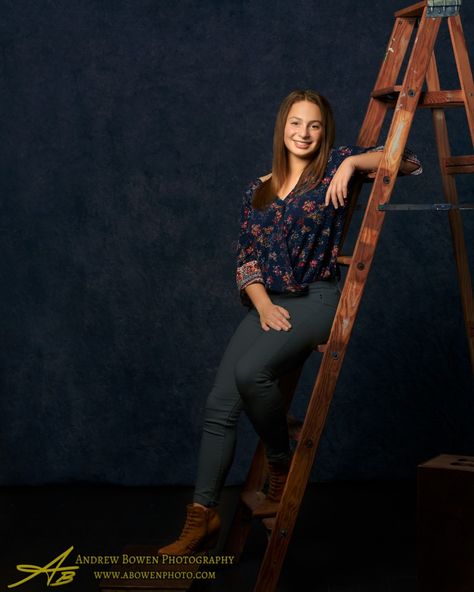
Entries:
{"label": "long straight brown hair of the young woman", "polygon": [[284,131],[288,113],[292,105],[299,101],[311,101],[320,108],[323,120],[323,135],[318,150],[316,150],[313,158],[301,173],[295,190],[299,191],[309,185],[317,185],[323,178],[329,152],[336,135],[332,108],[326,97],[313,90],[295,90],[283,99],[278,110],[273,133],[272,174],[255,190],[252,200],[252,206],[255,208],[263,209],[274,201],[278,190],[284,184],[288,175],[288,151],[284,142]]}

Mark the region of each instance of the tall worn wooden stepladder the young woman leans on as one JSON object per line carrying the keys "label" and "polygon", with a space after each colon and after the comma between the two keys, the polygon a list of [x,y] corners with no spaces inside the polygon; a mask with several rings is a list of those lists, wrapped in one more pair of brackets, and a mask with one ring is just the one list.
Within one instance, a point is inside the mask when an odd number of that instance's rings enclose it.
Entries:
{"label": "tall worn wooden stepladder the young woman leans on", "polygon": [[[336,382],[341,371],[352,327],[359,309],[359,303],[364,292],[385,218],[385,211],[390,210],[391,207],[389,203],[390,197],[399,174],[399,166],[413,117],[418,108],[429,108],[433,114],[446,203],[442,204],[443,208],[436,207],[440,206],[440,204],[431,204],[431,207],[448,210],[469,353],[474,369],[472,286],[459,212],[460,207],[463,209],[463,206],[458,204],[454,178],[456,174],[474,173],[474,155],[451,155],[444,114],[446,107],[465,108],[474,145],[474,84],[459,16],[460,5],[461,0],[425,0],[395,13],[393,31],[389,38],[374,90],[370,95],[367,113],[357,138],[357,144],[360,146],[375,145],[380,135],[385,114],[391,108],[394,109],[393,118],[376,174],[356,176],[343,240],[347,234],[347,228],[362,183],[370,180],[373,182],[373,187],[353,254],[338,258],[339,264],[348,266],[346,280],[328,342],[318,347],[318,350],[323,353],[323,357],[299,433],[279,509],[274,516],[262,520],[270,534],[254,592],[273,592],[277,586],[331,399],[336,388]],[[459,90],[440,90],[434,45],[443,19],[447,21],[449,27],[452,49],[461,84]],[[416,38],[412,45],[403,83],[398,85],[397,79],[410,39],[415,30]],[[425,80],[427,90],[423,91]],[[395,206],[392,207],[395,209]],[[407,207],[406,209],[410,208]],[[411,209],[417,209],[417,207],[412,206]],[[280,381],[288,406],[291,403],[301,370],[302,367],[297,368],[292,374],[287,375]],[[256,517],[253,513],[255,504],[252,500],[258,501],[259,499],[257,492],[261,491],[264,485],[265,465],[263,446],[259,442],[224,548],[224,552],[235,555],[236,560],[240,558],[243,552],[252,525],[251,519]]]}

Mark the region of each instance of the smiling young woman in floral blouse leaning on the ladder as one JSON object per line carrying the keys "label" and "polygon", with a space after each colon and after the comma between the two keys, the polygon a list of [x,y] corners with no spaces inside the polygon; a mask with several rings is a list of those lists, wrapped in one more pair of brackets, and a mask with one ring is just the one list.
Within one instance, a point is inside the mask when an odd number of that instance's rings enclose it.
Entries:
{"label": "smiling young woman in floral blouse leaning on the ladder", "polygon": [[[297,90],[275,124],[272,172],[244,193],[237,245],[237,286],[248,312],[220,363],[207,400],[193,503],[179,538],[159,550],[197,553],[219,533],[215,509],[232,463],[237,421],[245,410],[269,467],[268,510],[281,498],[291,462],[279,378],[304,363],[329,337],[340,297],[336,257],[351,177],[376,170],[383,146],[333,149],[327,99]],[[419,174],[405,151],[400,172]]]}

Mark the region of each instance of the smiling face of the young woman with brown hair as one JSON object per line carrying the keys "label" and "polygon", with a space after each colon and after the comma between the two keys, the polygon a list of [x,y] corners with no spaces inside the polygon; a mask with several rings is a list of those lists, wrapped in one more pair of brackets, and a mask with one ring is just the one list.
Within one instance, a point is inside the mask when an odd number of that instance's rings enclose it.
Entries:
{"label": "smiling face of the young woman with brown hair", "polygon": [[286,118],[284,142],[290,159],[314,157],[323,138],[321,109],[311,101],[293,103]]}

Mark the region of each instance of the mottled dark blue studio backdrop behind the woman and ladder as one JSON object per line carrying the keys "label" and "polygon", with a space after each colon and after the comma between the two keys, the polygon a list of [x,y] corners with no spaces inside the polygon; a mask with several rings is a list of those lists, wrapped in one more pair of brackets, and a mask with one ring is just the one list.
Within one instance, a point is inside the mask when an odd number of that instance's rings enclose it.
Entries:
{"label": "mottled dark blue studio backdrop behind the woman and ladder", "polygon": [[[404,5],[1,2],[2,484],[193,482],[203,404],[245,314],[241,194],[269,170],[277,107],[317,89],[337,144],[355,143]],[[462,18],[474,61],[472,4]],[[442,87],[458,88],[445,23],[437,46]],[[453,153],[471,153],[464,114],[448,123]],[[409,146],[424,174],[393,201],[441,201],[429,111]],[[472,180],[459,188],[472,201]],[[388,214],[313,478],[412,476],[473,454],[473,425],[447,214]],[[256,441],[245,418],[240,432],[229,482]]]}

